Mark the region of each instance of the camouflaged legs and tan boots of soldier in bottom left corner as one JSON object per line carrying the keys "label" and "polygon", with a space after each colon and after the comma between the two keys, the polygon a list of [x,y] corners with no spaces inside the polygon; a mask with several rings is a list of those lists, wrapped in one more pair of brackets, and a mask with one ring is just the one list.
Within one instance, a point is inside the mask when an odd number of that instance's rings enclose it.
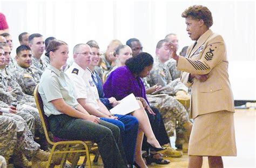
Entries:
{"label": "camouflaged legs and tan boots of soldier in bottom left corner", "polygon": [[[45,165],[44,161],[48,160],[50,153],[39,149],[40,145],[33,140],[26,122],[12,113],[15,111],[0,113],[0,155],[5,156],[6,160],[12,157],[14,164],[19,167],[29,167],[37,162],[38,165]],[[52,163],[58,162],[59,158],[55,156]]]}

